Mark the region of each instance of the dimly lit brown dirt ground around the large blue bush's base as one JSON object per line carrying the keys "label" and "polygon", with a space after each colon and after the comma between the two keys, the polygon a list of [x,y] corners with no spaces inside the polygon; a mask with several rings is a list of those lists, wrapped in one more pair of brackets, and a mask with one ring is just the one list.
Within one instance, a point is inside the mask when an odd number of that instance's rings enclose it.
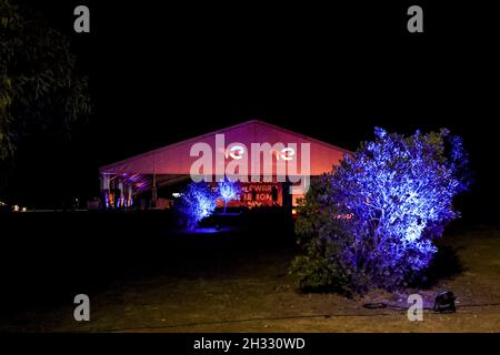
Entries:
{"label": "dimly lit brown dirt ground around the large blue bush's base", "polygon": [[[404,311],[367,310],[368,302],[407,306],[406,295],[372,292],[359,300],[302,294],[288,274],[293,248],[213,253],[186,261],[182,272],[129,273],[91,294],[91,321],[73,321],[73,305],[18,315],[3,331],[31,332],[500,332],[500,231],[448,233],[441,247],[457,254],[461,271],[420,293],[426,306],[452,290],[454,314],[426,311],[409,322]],[[444,263],[452,261],[444,260]],[[490,304],[490,305],[488,305]]]}

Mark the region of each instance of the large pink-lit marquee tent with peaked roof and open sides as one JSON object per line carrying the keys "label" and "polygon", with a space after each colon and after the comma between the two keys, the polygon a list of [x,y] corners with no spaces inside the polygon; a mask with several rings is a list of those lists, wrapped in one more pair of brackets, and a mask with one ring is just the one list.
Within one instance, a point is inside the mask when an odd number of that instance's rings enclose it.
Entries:
{"label": "large pink-lit marquee tent with peaked roof and open sides", "polygon": [[[221,138],[223,139],[222,145]],[[256,144],[271,148],[270,164],[272,164],[272,168],[264,166],[266,158],[262,154],[266,153],[251,149]],[[253,179],[251,176],[248,178],[249,183],[251,181],[253,185],[270,183],[269,180],[264,179],[267,168],[270,169],[268,172],[272,171],[271,183],[293,184],[293,181],[290,181],[293,180],[290,179],[290,168],[288,166],[286,171],[279,168],[283,160],[290,161],[290,163],[297,160],[297,169],[293,173],[297,182],[300,178],[298,175],[308,174],[309,178],[331,171],[332,166],[339,164],[344,154],[350,153],[344,149],[301,133],[263,121],[251,120],[102,166],[99,169],[101,189],[103,192],[109,192],[110,190],[119,191],[120,196],[117,197],[118,200],[114,199],[116,201],[112,201],[113,204],[123,203],[122,205],[127,205],[127,201],[130,201],[133,194],[143,191],[152,192],[151,199],[154,203],[157,189],[176,184],[193,176],[193,166],[199,165],[200,162],[201,153],[197,149],[200,146],[209,148],[209,152],[212,154],[210,163],[204,164],[203,169],[199,171],[200,174],[208,176],[211,181],[216,181],[218,172],[231,170],[231,164],[234,165],[234,160],[246,159],[249,165],[249,174],[250,166],[253,166],[252,162],[259,162],[257,169],[260,169],[260,172],[262,172],[258,179],[259,181],[256,181],[254,176]],[[293,149],[290,150],[289,146],[293,146]],[[257,154],[259,156],[256,156]],[[281,162],[279,161],[280,156]],[[207,156],[204,158],[207,159]],[[303,162],[306,159],[309,159],[308,171],[301,171],[304,170]],[[288,173],[289,176],[280,176],[283,173]],[[283,184],[280,184],[280,193],[283,186]],[[256,187],[249,186],[249,189]],[[297,194],[296,197],[299,195]],[[281,203],[284,202],[282,196],[280,201]]]}

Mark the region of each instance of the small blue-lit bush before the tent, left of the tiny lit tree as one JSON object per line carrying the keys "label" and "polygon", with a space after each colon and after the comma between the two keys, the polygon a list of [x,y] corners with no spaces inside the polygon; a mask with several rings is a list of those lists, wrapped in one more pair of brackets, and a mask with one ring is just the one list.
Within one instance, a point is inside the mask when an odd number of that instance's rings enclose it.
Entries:
{"label": "small blue-lit bush before the tent, left of the tiny lit tree", "polygon": [[213,213],[217,206],[217,194],[204,182],[189,183],[181,194],[179,211],[187,220],[189,229],[196,229],[198,223]]}

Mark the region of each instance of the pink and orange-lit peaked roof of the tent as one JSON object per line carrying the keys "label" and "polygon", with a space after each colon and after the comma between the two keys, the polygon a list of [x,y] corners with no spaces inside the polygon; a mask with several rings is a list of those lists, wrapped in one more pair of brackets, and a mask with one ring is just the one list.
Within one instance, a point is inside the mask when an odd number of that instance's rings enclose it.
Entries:
{"label": "pink and orange-lit peaked roof of the tent", "polygon": [[[192,162],[198,156],[190,156],[192,144],[206,142],[214,149],[216,134],[224,134],[226,146],[231,143],[242,143],[251,146],[251,143],[310,143],[311,144],[311,174],[321,174],[331,170],[348,150],[319,141],[301,133],[260,121],[250,120],[240,124],[231,125],[210,133],[198,135],[178,143],[169,144],[99,169],[102,174],[189,174]],[[250,154],[250,152],[249,152]],[[213,170],[214,171],[214,170]]]}

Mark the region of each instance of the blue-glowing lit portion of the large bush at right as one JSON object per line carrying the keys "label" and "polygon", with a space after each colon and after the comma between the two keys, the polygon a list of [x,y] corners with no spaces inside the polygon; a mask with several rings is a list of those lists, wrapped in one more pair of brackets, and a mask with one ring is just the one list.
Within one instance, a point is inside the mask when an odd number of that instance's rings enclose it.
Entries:
{"label": "blue-glowing lit portion of the large bush at right", "polygon": [[[452,205],[469,187],[468,155],[448,130],[404,138],[376,129],[376,140],[322,178],[319,203],[331,225],[319,236],[341,245],[343,267],[392,287],[431,262],[436,237],[459,217]],[[350,215],[344,219],[339,216]],[[356,277],[356,276],[352,276]]]}

